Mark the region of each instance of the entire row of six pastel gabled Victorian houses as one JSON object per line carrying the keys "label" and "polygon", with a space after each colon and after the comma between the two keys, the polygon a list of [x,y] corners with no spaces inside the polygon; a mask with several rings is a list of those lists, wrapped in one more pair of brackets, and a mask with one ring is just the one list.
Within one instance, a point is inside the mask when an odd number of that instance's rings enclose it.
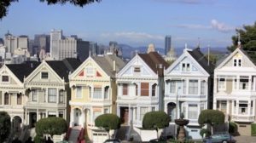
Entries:
{"label": "entire row of six pastel gabled Victorian houses", "polygon": [[[114,113],[126,125],[128,140],[142,130],[146,112],[165,111],[172,119],[166,134],[174,134],[174,119],[183,112],[187,134],[200,139],[197,119],[202,110],[217,109],[250,134],[255,123],[255,60],[242,49],[212,66],[200,49],[184,49],[171,66],[157,52],[136,54],[125,63],[113,54],[76,59],[3,65],[0,69],[0,111],[8,112],[20,129],[44,117],[63,117],[70,127],[86,129],[94,142],[108,138],[95,126],[97,116]],[[214,74],[213,74],[214,73]],[[214,83],[214,84],[213,84]],[[155,134],[151,134],[155,135]]]}

